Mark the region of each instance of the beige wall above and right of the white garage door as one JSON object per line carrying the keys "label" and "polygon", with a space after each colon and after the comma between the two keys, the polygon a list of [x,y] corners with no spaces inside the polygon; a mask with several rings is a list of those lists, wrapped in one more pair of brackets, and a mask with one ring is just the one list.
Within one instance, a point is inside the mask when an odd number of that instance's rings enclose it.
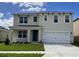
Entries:
{"label": "beige wall above and right of the white garage door", "polygon": [[[69,32],[70,42],[73,43],[73,20],[70,14],[45,14],[47,15],[47,21],[44,20],[44,15],[40,14],[39,25],[43,26],[43,32]],[[54,15],[58,15],[58,23],[54,23]],[[70,15],[70,22],[65,23],[65,15]],[[43,34],[42,34],[43,35]]]}

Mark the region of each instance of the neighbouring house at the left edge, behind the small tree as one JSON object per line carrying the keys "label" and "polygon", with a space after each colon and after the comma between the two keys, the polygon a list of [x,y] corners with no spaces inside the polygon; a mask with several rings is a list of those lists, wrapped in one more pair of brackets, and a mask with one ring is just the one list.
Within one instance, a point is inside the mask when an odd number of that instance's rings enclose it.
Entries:
{"label": "neighbouring house at the left edge, behind the small tree", "polygon": [[8,34],[9,34],[9,30],[0,26],[0,42],[5,41]]}

